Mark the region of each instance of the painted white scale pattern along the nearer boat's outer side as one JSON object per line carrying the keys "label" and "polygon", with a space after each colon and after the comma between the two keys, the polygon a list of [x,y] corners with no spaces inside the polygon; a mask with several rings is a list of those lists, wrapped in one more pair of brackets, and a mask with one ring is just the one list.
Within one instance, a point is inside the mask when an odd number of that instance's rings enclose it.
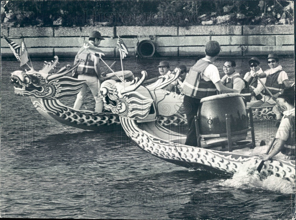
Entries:
{"label": "painted white scale pattern along the nearer boat's outer side", "polygon": [[[164,160],[186,161],[229,174],[234,174],[243,163],[248,161],[252,161],[255,167],[261,162],[256,156],[219,152],[165,141],[141,130],[134,120],[120,117],[120,122],[126,134],[142,150]],[[261,172],[295,182],[295,161],[271,160],[264,164]]]}

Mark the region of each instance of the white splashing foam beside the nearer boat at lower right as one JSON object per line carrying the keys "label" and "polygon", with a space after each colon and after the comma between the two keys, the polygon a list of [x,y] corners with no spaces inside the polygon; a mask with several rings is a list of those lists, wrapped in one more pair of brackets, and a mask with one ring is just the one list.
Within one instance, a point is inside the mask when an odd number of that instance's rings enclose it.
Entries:
{"label": "white splashing foam beside the nearer boat at lower right", "polygon": [[267,175],[264,172],[259,174],[256,170],[257,167],[254,166],[254,164],[255,160],[244,163],[231,179],[221,180],[219,185],[248,190],[269,190],[283,194],[295,193],[295,183],[289,182],[274,175]]}

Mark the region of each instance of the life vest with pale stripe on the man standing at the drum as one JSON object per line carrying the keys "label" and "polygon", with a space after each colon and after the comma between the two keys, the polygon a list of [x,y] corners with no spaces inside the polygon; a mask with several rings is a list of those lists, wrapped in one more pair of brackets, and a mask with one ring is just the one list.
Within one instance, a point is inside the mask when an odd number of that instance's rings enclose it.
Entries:
{"label": "life vest with pale stripe on the man standing at the drum", "polygon": [[197,99],[217,95],[215,84],[202,78],[202,73],[210,64],[211,62],[200,59],[190,68],[181,87],[184,95]]}

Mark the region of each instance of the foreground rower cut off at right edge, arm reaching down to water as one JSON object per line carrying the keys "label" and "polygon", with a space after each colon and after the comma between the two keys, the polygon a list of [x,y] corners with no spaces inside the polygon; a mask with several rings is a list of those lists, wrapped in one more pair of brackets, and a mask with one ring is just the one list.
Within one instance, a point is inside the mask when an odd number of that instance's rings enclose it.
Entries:
{"label": "foreground rower cut off at right edge, arm reaching down to water", "polygon": [[284,111],[274,143],[270,143],[273,144],[270,152],[262,154],[261,158],[295,160],[295,87],[285,89],[278,100],[287,107],[287,111]]}

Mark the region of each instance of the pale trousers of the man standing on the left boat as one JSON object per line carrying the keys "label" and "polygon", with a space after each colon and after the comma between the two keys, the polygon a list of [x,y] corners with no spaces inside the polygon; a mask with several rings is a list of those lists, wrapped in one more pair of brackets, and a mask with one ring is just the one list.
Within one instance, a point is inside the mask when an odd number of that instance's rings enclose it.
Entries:
{"label": "pale trousers of the man standing on the left boat", "polygon": [[86,98],[86,90],[87,87],[91,90],[91,93],[94,96],[96,101],[96,106],[94,111],[95,112],[102,112],[103,111],[103,100],[99,96],[99,88],[101,86],[100,81],[95,76],[86,76],[86,75],[78,75],[78,79],[84,79],[86,82],[82,86],[80,92],[77,94],[76,101],[74,103],[74,109],[79,110],[81,105],[83,104],[83,100]]}

